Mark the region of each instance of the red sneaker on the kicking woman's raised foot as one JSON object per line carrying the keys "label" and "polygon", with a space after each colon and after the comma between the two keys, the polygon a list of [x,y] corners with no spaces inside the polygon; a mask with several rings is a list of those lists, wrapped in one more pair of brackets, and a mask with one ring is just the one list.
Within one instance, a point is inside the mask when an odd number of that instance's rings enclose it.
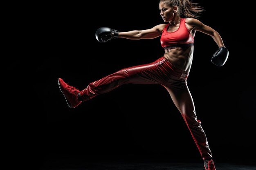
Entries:
{"label": "red sneaker on the kicking woman's raised foot", "polygon": [[77,88],[68,85],[61,78],[58,78],[58,86],[60,87],[61,92],[64,95],[67,104],[68,106],[70,106],[70,108],[75,108],[76,106],[82,103],[77,98],[80,92]]}

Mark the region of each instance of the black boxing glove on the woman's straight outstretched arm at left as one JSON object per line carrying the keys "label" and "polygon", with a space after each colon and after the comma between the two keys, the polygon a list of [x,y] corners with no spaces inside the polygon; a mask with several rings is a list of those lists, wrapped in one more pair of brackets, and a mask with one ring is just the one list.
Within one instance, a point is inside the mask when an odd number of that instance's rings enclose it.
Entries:
{"label": "black boxing glove on the woman's straight outstretched arm at left", "polygon": [[108,27],[100,27],[95,33],[95,37],[99,42],[108,42],[111,39],[118,38],[119,31]]}

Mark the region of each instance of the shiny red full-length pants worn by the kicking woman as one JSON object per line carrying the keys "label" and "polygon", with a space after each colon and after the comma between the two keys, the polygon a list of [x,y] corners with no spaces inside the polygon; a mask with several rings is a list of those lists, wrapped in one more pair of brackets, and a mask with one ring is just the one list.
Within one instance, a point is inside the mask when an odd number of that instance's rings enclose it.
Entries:
{"label": "shiny red full-length pants worn by the kicking woman", "polygon": [[201,122],[195,115],[195,106],[187,86],[188,75],[189,73],[175,68],[165,57],[161,57],[155,62],[124,68],[92,82],[80,92],[80,95],[83,101],[86,101],[123,84],[160,84],[169,92],[175,106],[182,114],[202,158],[211,159],[211,150]]}

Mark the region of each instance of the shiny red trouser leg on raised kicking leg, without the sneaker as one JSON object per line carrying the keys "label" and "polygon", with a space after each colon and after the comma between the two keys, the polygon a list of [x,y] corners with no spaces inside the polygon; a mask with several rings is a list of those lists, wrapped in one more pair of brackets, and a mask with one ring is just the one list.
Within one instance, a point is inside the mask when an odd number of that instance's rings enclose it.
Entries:
{"label": "shiny red trouser leg on raised kicking leg, without the sneaker", "polygon": [[159,62],[152,62],[125,68],[92,82],[80,92],[80,95],[83,101],[86,101],[123,84],[162,84],[167,80],[168,77],[159,69]]}

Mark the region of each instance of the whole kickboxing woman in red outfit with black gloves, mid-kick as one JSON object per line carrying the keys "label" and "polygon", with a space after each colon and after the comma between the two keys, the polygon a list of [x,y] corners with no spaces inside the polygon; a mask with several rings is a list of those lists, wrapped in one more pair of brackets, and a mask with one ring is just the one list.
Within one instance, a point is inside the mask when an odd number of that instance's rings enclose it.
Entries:
{"label": "whole kickboxing woman in red outfit with black gloves, mid-kick", "polygon": [[210,35],[218,45],[212,57],[213,64],[225,64],[228,51],[217,31],[203,24],[197,18],[204,11],[197,3],[189,0],[160,0],[160,15],[167,24],[159,24],[141,31],[119,32],[108,27],[101,27],[96,32],[99,42],[126,38],[132,40],[153,39],[161,36],[161,45],[165,50],[162,57],[149,64],[121,69],[111,75],[90,83],[79,91],[68,85],[63,79],[58,84],[67,104],[75,108],[99,94],[107,93],[123,84],[160,84],[166,88],[175,106],[182,114],[195,144],[204,160],[206,170],[215,170],[212,153],[201,122],[197,120],[195,106],[186,79],[189,76],[193,58],[193,42],[196,31]]}

